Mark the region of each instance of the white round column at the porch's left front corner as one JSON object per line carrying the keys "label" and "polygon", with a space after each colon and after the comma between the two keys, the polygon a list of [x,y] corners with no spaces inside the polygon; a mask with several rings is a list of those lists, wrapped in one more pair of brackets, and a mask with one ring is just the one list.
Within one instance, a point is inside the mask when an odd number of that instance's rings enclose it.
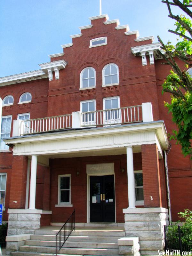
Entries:
{"label": "white round column at the porch's left front corner", "polygon": [[35,208],[36,173],[37,173],[37,156],[34,155],[31,157],[31,182],[30,182],[29,209],[36,209]]}

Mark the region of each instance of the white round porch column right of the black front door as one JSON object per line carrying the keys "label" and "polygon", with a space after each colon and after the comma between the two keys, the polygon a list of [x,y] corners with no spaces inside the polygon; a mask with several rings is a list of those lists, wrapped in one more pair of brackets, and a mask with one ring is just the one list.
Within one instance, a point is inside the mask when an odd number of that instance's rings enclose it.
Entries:
{"label": "white round porch column right of the black front door", "polygon": [[127,149],[127,179],[129,208],[135,208],[135,179],[133,170],[133,147]]}

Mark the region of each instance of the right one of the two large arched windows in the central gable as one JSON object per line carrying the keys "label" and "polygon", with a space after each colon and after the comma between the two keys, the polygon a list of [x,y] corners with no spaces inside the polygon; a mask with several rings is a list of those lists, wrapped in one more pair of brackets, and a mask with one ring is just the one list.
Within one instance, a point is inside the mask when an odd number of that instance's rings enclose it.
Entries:
{"label": "right one of the two large arched windows in the central gable", "polygon": [[119,83],[119,68],[110,63],[103,68],[103,85]]}

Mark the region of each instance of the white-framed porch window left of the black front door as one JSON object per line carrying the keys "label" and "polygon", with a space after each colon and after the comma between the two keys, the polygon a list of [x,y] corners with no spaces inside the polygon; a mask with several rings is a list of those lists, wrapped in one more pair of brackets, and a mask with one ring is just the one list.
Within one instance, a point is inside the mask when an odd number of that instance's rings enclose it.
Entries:
{"label": "white-framed porch window left of the black front door", "polygon": [[71,176],[59,175],[58,204],[71,203]]}

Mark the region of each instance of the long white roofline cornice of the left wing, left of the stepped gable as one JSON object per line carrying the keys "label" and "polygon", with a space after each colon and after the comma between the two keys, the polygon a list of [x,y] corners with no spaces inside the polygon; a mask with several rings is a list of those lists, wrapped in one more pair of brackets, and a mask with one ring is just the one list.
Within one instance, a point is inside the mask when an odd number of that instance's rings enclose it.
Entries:
{"label": "long white roofline cornice of the left wing, left of the stepped gable", "polygon": [[48,77],[43,70],[29,71],[12,76],[4,76],[0,78],[0,86],[22,83],[30,80],[42,79]]}

